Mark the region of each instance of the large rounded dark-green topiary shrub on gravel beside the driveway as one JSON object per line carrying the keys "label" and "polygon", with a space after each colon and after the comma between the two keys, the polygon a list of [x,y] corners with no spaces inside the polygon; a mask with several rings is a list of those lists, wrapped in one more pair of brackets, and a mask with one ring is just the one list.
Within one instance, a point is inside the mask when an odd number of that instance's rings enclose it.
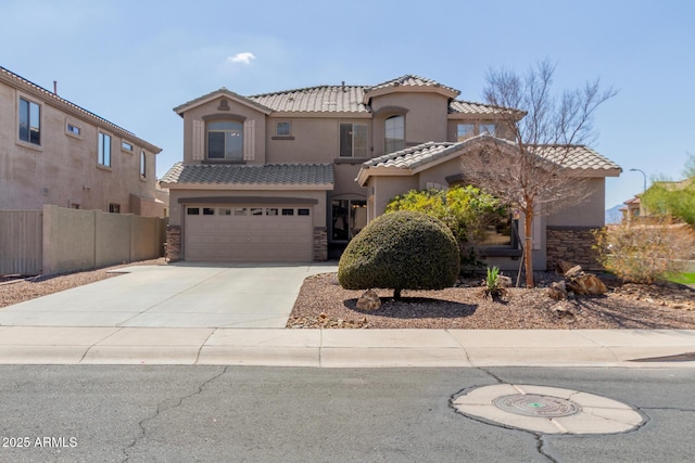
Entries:
{"label": "large rounded dark-green topiary shrub on gravel beside the driveway", "polygon": [[340,258],[346,290],[442,290],[456,283],[458,245],[451,230],[422,213],[399,210],[369,222]]}

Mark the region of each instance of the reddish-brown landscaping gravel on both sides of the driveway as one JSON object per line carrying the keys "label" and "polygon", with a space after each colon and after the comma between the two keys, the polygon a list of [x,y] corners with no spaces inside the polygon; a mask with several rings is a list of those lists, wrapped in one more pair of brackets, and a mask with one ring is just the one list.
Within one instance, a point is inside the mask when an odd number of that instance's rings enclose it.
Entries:
{"label": "reddish-brown landscaping gravel on both sides of the driveway", "polygon": [[[166,265],[164,259],[124,263],[68,274],[0,282],[0,308],[24,300],[118,278],[117,270],[134,265]],[[115,272],[114,272],[115,271]],[[381,308],[356,308],[364,291],[343,290],[334,273],[304,281],[288,327],[323,329],[464,329],[464,330],[587,330],[683,329],[695,330],[695,288],[677,285],[621,284],[602,275],[608,286],[603,296],[578,296],[556,301],[547,296],[553,273],[539,274],[539,287],[509,288],[503,301],[481,297],[480,278],[460,281],[442,291],[404,291],[403,300],[392,291],[378,290]]]}

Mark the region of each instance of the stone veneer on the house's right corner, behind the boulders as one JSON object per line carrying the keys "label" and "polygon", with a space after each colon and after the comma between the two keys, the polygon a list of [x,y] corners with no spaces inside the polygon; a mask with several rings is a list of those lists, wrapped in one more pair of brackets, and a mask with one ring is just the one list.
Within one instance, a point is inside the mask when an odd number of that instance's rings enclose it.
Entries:
{"label": "stone veneer on the house's right corner, behind the boulders", "polygon": [[598,227],[548,227],[546,230],[546,262],[548,271],[560,260],[580,265],[584,270],[601,271],[596,243],[592,232]]}

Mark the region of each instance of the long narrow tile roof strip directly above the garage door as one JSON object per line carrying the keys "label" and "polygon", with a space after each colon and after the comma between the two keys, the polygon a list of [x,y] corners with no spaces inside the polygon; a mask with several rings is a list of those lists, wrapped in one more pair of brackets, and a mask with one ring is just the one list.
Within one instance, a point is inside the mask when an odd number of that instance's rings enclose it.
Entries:
{"label": "long narrow tile roof strip directly above the garage door", "polygon": [[188,164],[176,163],[162,183],[317,185],[333,183],[331,164]]}

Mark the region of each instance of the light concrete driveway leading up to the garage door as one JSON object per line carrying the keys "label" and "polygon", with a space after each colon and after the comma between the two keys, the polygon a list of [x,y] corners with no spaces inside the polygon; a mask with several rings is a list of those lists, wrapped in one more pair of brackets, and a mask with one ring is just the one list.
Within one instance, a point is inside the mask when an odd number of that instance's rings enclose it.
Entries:
{"label": "light concrete driveway leading up to the garage door", "polygon": [[285,327],[302,282],[333,262],[174,263],[0,310],[5,326]]}

